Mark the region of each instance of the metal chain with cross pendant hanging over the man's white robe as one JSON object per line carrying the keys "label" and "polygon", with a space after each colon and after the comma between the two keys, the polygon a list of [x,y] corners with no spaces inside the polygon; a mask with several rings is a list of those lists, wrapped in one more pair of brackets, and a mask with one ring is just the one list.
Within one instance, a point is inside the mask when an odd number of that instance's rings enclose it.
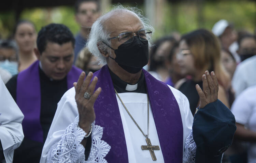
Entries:
{"label": "metal chain with cross pendant hanging over the man's white robe", "polygon": [[151,157],[152,157],[152,160],[156,160],[156,155],[155,155],[155,152],[154,150],[160,150],[159,146],[153,146],[151,144],[151,141],[150,141],[150,138],[148,138],[148,135],[149,135],[149,100],[148,100],[148,95],[147,95],[147,134],[145,134],[142,129],[140,128],[140,126],[137,124],[137,122],[133,119],[133,117],[131,116],[130,112],[128,111],[128,109],[126,108],[124,102],[122,101],[122,99],[119,97],[118,93],[116,92],[116,89],[115,89],[115,93],[117,95],[117,97],[119,98],[119,100],[121,101],[121,103],[123,104],[126,112],[128,113],[128,115],[131,117],[131,119],[133,120],[134,124],[138,127],[138,129],[141,131],[141,133],[146,137],[146,142],[147,142],[147,145],[142,145],[141,146],[141,149],[142,150],[149,150],[150,151],[150,154],[151,154]]}

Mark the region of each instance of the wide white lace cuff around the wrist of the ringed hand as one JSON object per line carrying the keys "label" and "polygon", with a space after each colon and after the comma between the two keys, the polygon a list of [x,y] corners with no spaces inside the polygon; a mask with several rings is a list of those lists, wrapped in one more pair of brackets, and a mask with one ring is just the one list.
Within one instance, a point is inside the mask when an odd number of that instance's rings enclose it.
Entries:
{"label": "wide white lace cuff around the wrist of the ringed hand", "polygon": [[104,157],[110,150],[110,146],[101,140],[103,129],[102,127],[92,124],[92,144],[89,158],[85,161],[85,148],[82,140],[86,133],[78,127],[79,116],[77,116],[72,124],[70,124],[61,140],[55,143],[47,153],[47,162],[77,162],[77,163],[106,163]]}

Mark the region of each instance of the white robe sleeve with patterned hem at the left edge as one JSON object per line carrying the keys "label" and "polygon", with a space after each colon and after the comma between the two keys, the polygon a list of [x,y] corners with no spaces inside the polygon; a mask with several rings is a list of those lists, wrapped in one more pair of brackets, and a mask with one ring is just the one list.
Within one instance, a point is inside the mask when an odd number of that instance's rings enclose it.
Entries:
{"label": "white robe sleeve with patterned hem at the left edge", "polygon": [[14,149],[20,146],[24,138],[22,130],[24,115],[5,87],[1,76],[0,104],[0,140],[6,163],[12,163]]}

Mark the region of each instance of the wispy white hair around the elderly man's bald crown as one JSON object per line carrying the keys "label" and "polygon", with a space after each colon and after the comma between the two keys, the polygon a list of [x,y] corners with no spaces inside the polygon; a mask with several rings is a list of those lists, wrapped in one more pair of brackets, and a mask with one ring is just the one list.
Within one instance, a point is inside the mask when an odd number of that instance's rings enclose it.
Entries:
{"label": "wispy white hair around the elderly man's bald crown", "polygon": [[[121,4],[115,5],[111,11],[103,14],[93,23],[93,26],[91,27],[91,31],[88,37],[88,42],[86,44],[89,51],[94,56],[96,56],[96,58],[98,58],[99,64],[103,64],[103,65],[106,64],[106,58],[100,53],[99,49],[110,53],[110,48],[107,45],[103,44],[102,42],[111,46],[111,41],[108,40],[110,36],[110,32],[107,31],[106,28],[103,26],[103,22],[105,18],[104,16],[110,12],[122,11],[122,10],[129,10],[133,12],[139,17],[144,29],[151,30],[152,35],[155,32],[155,29],[150,25],[150,21],[143,16],[142,10],[138,9],[137,7],[124,7]],[[152,40],[148,39],[148,47],[151,47],[151,46],[152,46]]]}

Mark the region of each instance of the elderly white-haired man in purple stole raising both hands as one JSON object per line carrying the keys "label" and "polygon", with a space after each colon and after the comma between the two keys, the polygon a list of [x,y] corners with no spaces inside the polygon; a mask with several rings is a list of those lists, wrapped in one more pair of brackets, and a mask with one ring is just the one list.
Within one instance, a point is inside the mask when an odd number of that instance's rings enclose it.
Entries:
{"label": "elderly white-haired man in purple stole raising both hands", "polygon": [[214,72],[203,75],[203,91],[196,86],[193,124],[188,99],[142,69],[153,32],[137,8],[121,5],[94,22],[87,47],[105,66],[85,80],[82,72],[61,98],[41,163],[221,162],[236,126]]}

